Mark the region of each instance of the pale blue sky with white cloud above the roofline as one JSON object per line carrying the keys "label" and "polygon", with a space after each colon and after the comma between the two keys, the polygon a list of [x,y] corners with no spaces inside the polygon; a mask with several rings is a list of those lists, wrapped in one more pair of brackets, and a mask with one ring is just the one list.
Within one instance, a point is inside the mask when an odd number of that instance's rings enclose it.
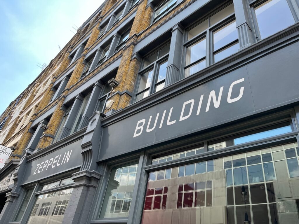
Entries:
{"label": "pale blue sky with white cloud above the roofline", "polygon": [[104,0],[0,0],[0,115]]}

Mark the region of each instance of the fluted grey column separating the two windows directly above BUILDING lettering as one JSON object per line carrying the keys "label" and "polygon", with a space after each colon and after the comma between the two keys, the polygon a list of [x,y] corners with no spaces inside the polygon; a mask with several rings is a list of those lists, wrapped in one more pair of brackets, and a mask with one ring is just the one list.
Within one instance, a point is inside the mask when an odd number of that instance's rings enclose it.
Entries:
{"label": "fluted grey column separating the two windows directly above BUILDING lettering", "polygon": [[173,84],[180,80],[180,65],[182,57],[182,46],[184,29],[178,23],[172,28],[172,35],[170,41],[170,51],[167,63],[167,72],[165,78],[165,86]]}

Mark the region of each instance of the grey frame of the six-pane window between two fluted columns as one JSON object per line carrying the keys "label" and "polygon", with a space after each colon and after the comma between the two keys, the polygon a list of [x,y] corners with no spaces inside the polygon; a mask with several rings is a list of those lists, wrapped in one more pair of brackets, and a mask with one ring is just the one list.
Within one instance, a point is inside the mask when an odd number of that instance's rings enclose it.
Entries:
{"label": "grey frame of the six-pane window between two fluted columns", "polygon": [[[218,21],[216,24],[210,25],[210,18],[214,16],[216,13],[220,12],[221,10],[225,9],[225,7],[233,4],[232,1],[228,1],[221,6],[219,6],[216,9],[211,10],[209,13],[202,16],[197,22],[194,22],[192,25],[187,27],[185,29],[184,33],[184,44],[183,44],[183,59],[182,59],[182,71],[183,71],[183,77],[188,77],[193,74],[198,73],[199,71],[189,74],[188,76],[185,75],[186,69],[192,67],[193,65],[196,65],[197,63],[201,62],[202,60],[205,60],[205,68],[209,67],[210,65],[213,65],[217,62],[214,62],[214,54],[220,52],[223,49],[228,48],[228,46],[232,46],[235,43],[239,42],[239,38],[237,40],[234,40],[233,42],[230,42],[229,44],[217,49],[216,51],[213,50],[213,32],[219,30],[221,27],[224,27],[225,25],[229,24],[230,22],[233,22],[236,20],[235,12],[229,14],[228,16],[224,17],[220,21]],[[208,19],[208,28],[202,31],[201,33],[197,34],[196,36],[192,37],[188,40],[188,32],[196,27],[197,25],[201,24],[202,22],[205,22],[205,20]],[[236,27],[237,30],[237,27]],[[190,47],[193,44],[196,44],[200,40],[205,39],[206,41],[206,53],[205,57],[202,57],[201,59],[196,60],[195,62],[190,63],[189,65],[186,65],[186,59],[187,59],[187,48]],[[222,60],[222,59],[221,59]],[[220,61],[221,61],[220,60]],[[205,69],[203,68],[203,69]]]}

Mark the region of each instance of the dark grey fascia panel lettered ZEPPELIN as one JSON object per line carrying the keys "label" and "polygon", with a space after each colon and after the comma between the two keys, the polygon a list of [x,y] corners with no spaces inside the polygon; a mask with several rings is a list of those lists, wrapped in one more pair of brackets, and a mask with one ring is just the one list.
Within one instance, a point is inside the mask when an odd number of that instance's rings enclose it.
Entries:
{"label": "dark grey fascia panel lettered ZEPPELIN", "polygon": [[[28,162],[27,168],[25,171],[25,175],[24,175],[24,179],[22,182],[28,183],[28,182],[44,179],[49,176],[79,167],[82,164],[81,146],[80,146],[81,141],[82,141],[82,139],[80,139],[76,142],[73,142],[69,145],[66,145],[60,149],[55,150],[55,151],[51,151],[50,153],[45,154],[44,156],[41,156],[38,159]],[[33,175],[33,173],[36,171],[38,164],[41,164],[42,162],[45,162],[46,160],[50,160],[51,158],[55,158],[56,156],[60,156],[60,154],[61,154],[61,157],[60,157],[60,163],[61,163],[64,154],[71,150],[72,150],[72,152],[71,152],[68,162],[65,162],[64,164],[60,164],[60,166],[55,165],[54,168],[49,166],[48,170],[46,170],[46,168],[44,168],[44,170],[42,172],[39,172],[39,173],[36,172],[36,174]],[[56,160],[58,160],[58,158]]]}

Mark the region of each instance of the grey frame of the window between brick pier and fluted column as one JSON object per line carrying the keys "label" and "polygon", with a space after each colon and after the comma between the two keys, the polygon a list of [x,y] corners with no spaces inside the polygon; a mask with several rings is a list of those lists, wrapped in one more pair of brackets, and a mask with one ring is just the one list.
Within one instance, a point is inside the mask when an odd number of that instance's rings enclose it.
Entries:
{"label": "grey frame of the window between brick pier and fluted column", "polygon": [[[167,53],[165,55],[162,55],[162,56],[160,55],[161,54],[161,49],[166,47],[167,45],[170,45],[169,41],[164,42],[162,45],[160,45],[155,50],[151,51],[150,53],[146,54],[143,57],[143,59],[141,61],[141,64],[140,64],[140,67],[139,67],[138,77],[136,79],[136,84],[138,83],[138,85],[135,85],[134,92],[133,92],[133,97],[131,99],[131,103],[137,102],[136,101],[137,96],[139,94],[142,94],[142,93],[146,92],[146,91],[149,91],[148,96],[150,96],[151,94],[153,94],[155,92],[158,92],[158,91],[155,91],[155,86],[165,82],[166,77],[165,77],[165,79],[163,79],[159,82],[157,82],[157,80],[158,80],[158,71],[159,71],[160,65],[163,64],[164,62],[168,61],[169,53]],[[151,64],[147,65],[147,67],[143,67],[144,66],[144,60],[147,59],[148,57],[154,55],[157,52],[158,52],[157,59],[154,62],[152,62]],[[151,70],[152,70],[152,81],[151,81],[149,87],[138,92],[138,88],[139,88],[140,81],[141,81],[141,76],[143,74],[147,73],[148,71],[151,71]],[[146,97],[144,97],[144,98],[146,98]],[[140,100],[142,100],[142,99],[140,99]]]}

